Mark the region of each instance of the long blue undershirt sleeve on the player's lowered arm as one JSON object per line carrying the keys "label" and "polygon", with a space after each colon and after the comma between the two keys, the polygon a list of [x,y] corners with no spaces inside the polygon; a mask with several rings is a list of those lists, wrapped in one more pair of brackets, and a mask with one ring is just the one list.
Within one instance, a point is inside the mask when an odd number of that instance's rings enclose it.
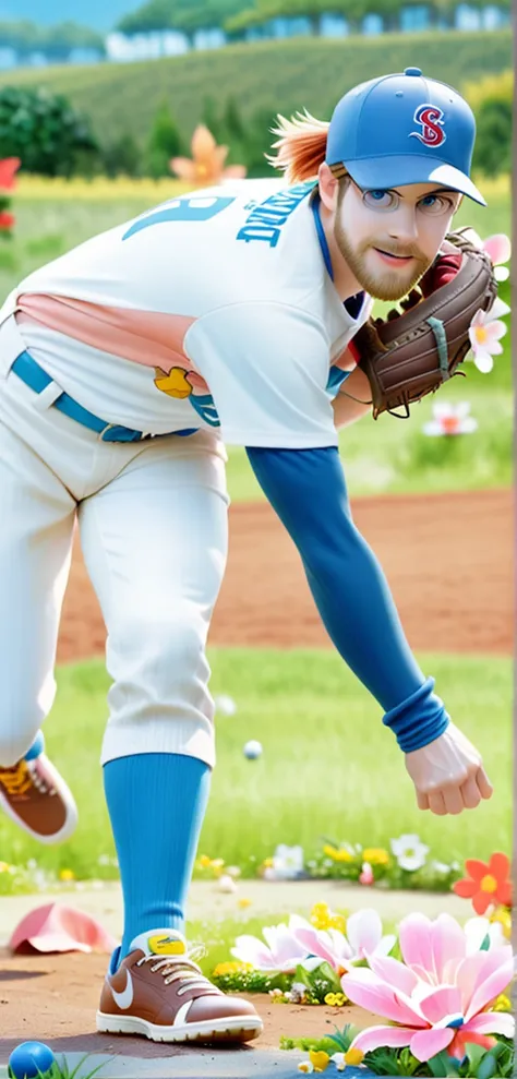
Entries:
{"label": "long blue undershirt sleeve on the player's lowered arm", "polygon": [[253,471],[300,553],[325,628],[375,697],[405,753],[433,742],[449,717],[422,674],[381,565],[353,524],[338,449],[247,447]]}

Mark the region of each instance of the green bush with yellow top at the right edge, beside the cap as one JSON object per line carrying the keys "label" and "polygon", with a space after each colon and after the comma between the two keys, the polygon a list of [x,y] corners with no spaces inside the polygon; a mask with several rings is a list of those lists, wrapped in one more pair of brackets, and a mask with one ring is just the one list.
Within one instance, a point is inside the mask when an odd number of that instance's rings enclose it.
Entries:
{"label": "green bush with yellow top at the right edge, beside the cap", "polygon": [[512,70],[464,86],[464,95],[476,113],[472,168],[485,176],[512,171],[513,93]]}

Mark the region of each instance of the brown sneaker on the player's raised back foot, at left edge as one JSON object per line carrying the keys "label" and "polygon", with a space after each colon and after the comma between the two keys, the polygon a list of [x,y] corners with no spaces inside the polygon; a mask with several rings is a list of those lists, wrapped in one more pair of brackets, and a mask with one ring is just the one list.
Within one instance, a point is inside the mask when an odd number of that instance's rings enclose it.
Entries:
{"label": "brown sneaker on the player's raised back foot, at left edge", "polygon": [[45,753],[0,766],[0,807],[40,843],[62,842],[77,824],[73,795]]}

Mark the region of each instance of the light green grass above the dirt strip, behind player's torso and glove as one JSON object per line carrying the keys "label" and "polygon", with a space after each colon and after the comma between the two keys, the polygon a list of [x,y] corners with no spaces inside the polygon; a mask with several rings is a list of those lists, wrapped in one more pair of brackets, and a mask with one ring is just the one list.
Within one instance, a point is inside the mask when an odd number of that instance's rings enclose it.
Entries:
{"label": "light green grass above the dirt strip, behind player's torso and glove", "polygon": [[[479,178],[478,178],[479,179]],[[509,180],[479,179],[489,207],[464,203],[455,224],[472,225],[482,237],[510,232]],[[153,183],[77,182],[70,185],[22,179],[14,199],[16,233],[0,247],[0,297],[4,297],[37,266],[62,254],[95,232],[111,228],[184,189],[173,180]],[[501,295],[509,300],[509,287]],[[352,495],[377,492],[444,491],[507,485],[512,482],[510,334],[504,355],[490,375],[466,363],[467,379],[456,377],[413,406],[411,419],[400,422],[371,416],[340,433],[340,452]],[[479,429],[472,436],[429,439],[421,433],[436,399],[471,403]],[[261,499],[262,491],[242,449],[230,449],[228,483],[235,502]]]}

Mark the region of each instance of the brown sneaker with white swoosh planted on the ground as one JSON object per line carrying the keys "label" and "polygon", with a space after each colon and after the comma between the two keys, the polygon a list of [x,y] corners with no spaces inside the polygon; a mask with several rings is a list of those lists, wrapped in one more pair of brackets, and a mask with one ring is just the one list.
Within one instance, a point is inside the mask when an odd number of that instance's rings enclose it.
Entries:
{"label": "brown sneaker with white swoosh planted on the ground", "polygon": [[151,930],[135,937],[117,970],[119,952],[116,948],[111,956],[97,1030],[144,1034],[155,1042],[212,1044],[249,1042],[263,1030],[252,1004],[227,996],[202,974],[177,930]]}

